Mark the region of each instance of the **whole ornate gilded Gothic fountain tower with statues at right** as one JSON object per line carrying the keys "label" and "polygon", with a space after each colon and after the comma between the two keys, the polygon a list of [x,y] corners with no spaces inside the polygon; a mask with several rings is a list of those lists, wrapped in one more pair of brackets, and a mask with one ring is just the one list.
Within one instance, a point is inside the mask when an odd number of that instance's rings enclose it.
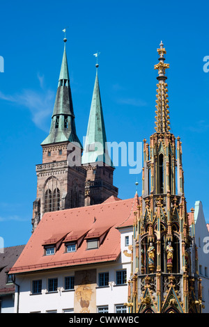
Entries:
{"label": "whole ornate gilded Gothic fountain tower with statues at right", "polygon": [[144,140],[142,196],[134,213],[127,307],[131,313],[201,312],[194,217],[189,232],[182,146],[180,138],[176,144],[170,132],[165,75],[169,64],[164,63],[162,42],[157,52],[156,127],[150,145]]}

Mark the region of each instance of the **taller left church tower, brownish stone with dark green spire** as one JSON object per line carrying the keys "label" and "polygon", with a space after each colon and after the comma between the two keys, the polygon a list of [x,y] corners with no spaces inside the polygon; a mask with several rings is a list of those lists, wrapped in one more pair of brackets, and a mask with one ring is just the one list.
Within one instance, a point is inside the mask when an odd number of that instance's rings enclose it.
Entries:
{"label": "taller left church tower, brownish stone with dark green spire", "polygon": [[[33,230],[45,212],[84,206],[86,170],[81,166],[82,144],[75,128],[66,46],[50,131],[41,146],[42,163],[36,165],[37,196],[33,202]],[[68,160],[75,149],[80,163],[77,165]]]}

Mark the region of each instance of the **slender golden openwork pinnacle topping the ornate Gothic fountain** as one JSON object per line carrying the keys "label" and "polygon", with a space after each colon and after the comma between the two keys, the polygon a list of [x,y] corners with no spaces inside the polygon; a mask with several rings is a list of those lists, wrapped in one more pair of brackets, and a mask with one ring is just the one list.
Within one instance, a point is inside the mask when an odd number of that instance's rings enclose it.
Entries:
{"label": "slender golden openwork pinnacle topping the ornate Gothic fountain", "polygon": [[165,70],[169,68],[169,63],[164,63],[164,54],[167,51],[164,49],[164,45],[161,41],[160,49],[157,49],[157,52],[160,56],[158,58],[159,63],[155,65],[155,70],[158,70],[158,83],[157,83],[157,99],[156,99],[156,116],[155,116],[155,130],[157,133],[168,133],[170,130],[170,122],[169,122],[169,100],[168,97],[168,84],[165,83],[167,77],[165,76]]}

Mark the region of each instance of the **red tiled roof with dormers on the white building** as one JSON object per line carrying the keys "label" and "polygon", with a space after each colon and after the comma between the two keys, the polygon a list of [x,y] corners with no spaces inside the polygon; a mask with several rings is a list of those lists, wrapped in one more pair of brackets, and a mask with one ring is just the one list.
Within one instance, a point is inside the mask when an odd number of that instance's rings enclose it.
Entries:
{"label": "red tiled roof with dormers on the white building", "polygon": [[[100,205],[44,214],[10,273],[116,260],[121,253],[121,234],[116,228],[132,223],[137,197],[127,200],[112,198]],[[106,233],[102,244],[99,248],[86,250],[85,235],[93,235],[94,232],[97,237]],[[52,238],[60,240],[63,235],[66,237],[55,254],[44,255],[42,244]],[[70,240],[70,235],[74,235],[74,240],[82,236],[84,239],[75,252],[65,253],[65,240]]]}

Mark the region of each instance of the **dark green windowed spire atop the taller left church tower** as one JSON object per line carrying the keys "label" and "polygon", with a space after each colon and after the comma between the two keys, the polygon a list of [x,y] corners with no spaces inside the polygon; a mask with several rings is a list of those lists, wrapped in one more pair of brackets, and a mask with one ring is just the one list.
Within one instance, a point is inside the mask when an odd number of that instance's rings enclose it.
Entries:
{"label": "dark green windowed spire atop the taller left church tower", "polygon": [[[66,41],[67,39],[64,38],[64,42]],[[63,60],[59,74],[59,84],[56,91],[49,136],[45,138],[45,141],[43,141],[41,145],[63,141],[77,142],[82,146],[77,137],[75,128],[75,115],[72,106],[66,47],[64,47],[63,52]]]}

